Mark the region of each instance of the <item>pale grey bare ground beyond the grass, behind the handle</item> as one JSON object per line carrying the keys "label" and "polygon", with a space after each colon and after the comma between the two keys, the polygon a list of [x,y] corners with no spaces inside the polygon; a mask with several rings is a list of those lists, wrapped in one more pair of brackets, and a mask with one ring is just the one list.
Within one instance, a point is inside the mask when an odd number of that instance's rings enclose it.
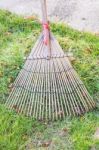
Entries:
{"label": "pale grey bare ground beyond the grass, behind the handle", "polygon": [[[78,30],[99,32],[98,0],[47,0],[47,3],[51,20],[64,21]],[[41,17],[40,0],[0,0],[0,8]]]}

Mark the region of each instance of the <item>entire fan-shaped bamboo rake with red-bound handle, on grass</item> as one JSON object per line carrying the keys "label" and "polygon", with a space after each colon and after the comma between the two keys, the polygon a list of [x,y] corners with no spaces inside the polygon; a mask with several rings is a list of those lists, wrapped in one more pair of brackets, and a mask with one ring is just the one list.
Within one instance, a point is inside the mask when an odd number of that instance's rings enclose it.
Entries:
{"label": "entire fan-shaped bamboo rake with red-bound handle, on grass", "polygon": [[6,106],[37,120],[79,116],[95,107],[68,57],[50,32],[42,0],[43,32],[16,78]]}

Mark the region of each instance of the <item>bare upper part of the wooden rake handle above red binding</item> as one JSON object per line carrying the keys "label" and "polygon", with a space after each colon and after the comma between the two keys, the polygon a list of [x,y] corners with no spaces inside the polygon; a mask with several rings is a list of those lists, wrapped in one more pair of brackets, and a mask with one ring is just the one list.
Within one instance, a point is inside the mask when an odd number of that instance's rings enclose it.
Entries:
{"label": "bare upper part of the wooden rake handle above red binding", "polygon": [[42,20],[43,20],[43,23],[47,23],[47,6],[46,6],[46,0],[41,0],[41,6],[42,6]]}

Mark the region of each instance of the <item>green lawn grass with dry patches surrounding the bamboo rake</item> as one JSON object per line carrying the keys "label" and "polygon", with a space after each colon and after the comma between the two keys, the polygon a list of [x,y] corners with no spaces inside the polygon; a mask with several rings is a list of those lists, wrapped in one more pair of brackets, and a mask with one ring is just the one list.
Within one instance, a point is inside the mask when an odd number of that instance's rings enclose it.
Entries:
{"label": "green lawn grass with dry patches surrounding the bamboo rake", "polygon": [[[64,51],[71,51],[75,70],[95,100],[99,99],[99,37],[78,32],[64,24],[51,24]],[[37,122],[4,106],[26,57],[40,33],[38,21],[0,10],[0,150],[99,149],[93,138],[99,127],[98,108],[82,117],[54,123]]]}

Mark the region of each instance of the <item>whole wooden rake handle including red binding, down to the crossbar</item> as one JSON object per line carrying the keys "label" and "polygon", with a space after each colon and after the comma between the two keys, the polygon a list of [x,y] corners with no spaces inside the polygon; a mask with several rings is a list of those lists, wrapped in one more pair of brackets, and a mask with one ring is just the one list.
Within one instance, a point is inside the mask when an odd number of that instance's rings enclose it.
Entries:
{"label": "whole wooden rake handle including red binding, down to the crossbar", "polygon": [[47,59],[51,57],[51,48],[50,48],[50,29],[47,20],[47,6],[46,0],[41,0],[42,6],[42,24],[43,24],[43,33],[44,33],[44,44],[47,46]]}

